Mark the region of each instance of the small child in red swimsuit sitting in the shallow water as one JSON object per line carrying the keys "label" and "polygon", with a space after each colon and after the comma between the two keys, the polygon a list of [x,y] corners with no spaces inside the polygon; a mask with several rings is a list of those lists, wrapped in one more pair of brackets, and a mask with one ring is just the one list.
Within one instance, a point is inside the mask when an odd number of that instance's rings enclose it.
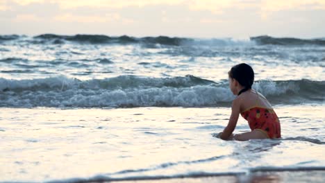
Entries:
{"label": "small child in red swimsuit sitting in the shallow water", "polygon": [[[280,122],[267,99],[256,90],[251,89],[254,81],[254,71],[248,64],[238,64],[228,71],[229,87],[237,95],[231,107],[231,117],[221,139],[247,141],[249,139],[274,139],[281,137]],[[232,135],[239,114],[249,123],[251,132]]]}

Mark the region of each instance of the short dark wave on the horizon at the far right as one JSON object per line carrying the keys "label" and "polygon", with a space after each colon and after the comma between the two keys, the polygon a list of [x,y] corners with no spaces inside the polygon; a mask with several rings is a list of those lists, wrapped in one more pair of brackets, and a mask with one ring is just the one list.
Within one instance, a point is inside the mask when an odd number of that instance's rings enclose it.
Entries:
{"label": "short dark wave on the horizon at the far right", "polygon": [[256,42],[258,45],[265,45],[265,44],[276,44],[276,45],[283,45],[283,46],[299,46],[299,45],[319,45],[325,46],[325,39],[311,39],[311,40],[303,40],[299,38],[293,37],[283,37],[283,38],[276,38],[270,37],[267,35],[262,35],[258,37],[251,37],[251,41]]}

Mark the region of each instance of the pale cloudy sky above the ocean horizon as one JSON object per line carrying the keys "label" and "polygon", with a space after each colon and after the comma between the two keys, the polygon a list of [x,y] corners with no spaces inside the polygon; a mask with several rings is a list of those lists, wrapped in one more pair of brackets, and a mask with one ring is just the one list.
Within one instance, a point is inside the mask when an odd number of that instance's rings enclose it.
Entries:
{"label": "pale cloudy sky above the ocean horizon", "polygon": [[0,35],[325,37],[325,0],[0,0]]}

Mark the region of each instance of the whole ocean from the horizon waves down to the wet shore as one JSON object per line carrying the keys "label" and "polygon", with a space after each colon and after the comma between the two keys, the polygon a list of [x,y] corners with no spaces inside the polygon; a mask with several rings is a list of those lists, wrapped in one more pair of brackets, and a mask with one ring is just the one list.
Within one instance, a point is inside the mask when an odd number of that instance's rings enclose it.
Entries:
{"label": "whole ocean from the horizon waves down to the wet shore", "polygon": [[[281,139],[215,137],[242,62]],[[0,35],[0,182],[325,170],[324,78],[322,38]]]}

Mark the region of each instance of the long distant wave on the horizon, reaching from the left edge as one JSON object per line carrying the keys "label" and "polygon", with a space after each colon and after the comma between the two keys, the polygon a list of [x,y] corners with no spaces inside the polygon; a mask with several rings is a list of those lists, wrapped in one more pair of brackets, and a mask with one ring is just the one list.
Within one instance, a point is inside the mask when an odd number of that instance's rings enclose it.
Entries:
{"label": "long distant wave on the horizon, reaching from the left edge", "polygon": [[111,37],[108,35],[56,35],[56,34],[42,34],[27,39],[19,40],[19,38],[26,37],[24,35],[0,35],[1,41],[17,40],[28,42],[31,44],[65,44],[68,42],[81,44],[144,44],[145,46],[155,46],[156,44],[165,46],[232,46],[238,44],[247,44],[247,41],[238,41],[231,38],[225,39],[196,39],[186,37],[131,37],[122,35]]}

